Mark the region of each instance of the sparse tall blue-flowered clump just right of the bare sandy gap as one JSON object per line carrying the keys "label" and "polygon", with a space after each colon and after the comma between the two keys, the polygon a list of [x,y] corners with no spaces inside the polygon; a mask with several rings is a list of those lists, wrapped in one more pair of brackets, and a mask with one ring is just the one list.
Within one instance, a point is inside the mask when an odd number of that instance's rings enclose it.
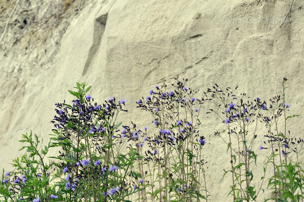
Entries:
{"label": "sparse tall blue-flowered clump just right of the bare sandy gap", "polygon": [[[228,172],[232,174],[230,194],[233,195],[233,201],[250,201],[256,199],[255,187],[251,185],[253,179],[251,167],[252,164],[256,165],[257,160],[253,147],[257,137],[255,134],[256,119],[257,113],[263,109],[264,105],[257,99],[249,102],[249,100],[245,100],[249,99],[246,93],[237,96],[234,90],[223,89],[215,84],[211,89],[207,89],[207,92],[211,92],[211,96],[206,101],[216,106],[216,109],[210,109],[210,112],[216,113],[226,124],[226,130],[216,132],[215,135],[226,143],[227,152],[229,151],[231,167],[227,171],[224,169],[224,176]],[[249,131],[249,129],[253,129],[253,131]],[[222,135],[222,133],[228,135]]]}

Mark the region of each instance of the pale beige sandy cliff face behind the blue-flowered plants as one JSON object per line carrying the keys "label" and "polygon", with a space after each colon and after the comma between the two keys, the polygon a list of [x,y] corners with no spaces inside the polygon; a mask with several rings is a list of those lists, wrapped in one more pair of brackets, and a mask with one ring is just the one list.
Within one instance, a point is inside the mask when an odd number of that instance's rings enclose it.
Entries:
{"label": "pale beige sandy cliff face behind the blue-flowered plants", "polygon": [[[22,154],[21,134],[32,130],[48,141],[54,103],[71,102],[67,90],[76,82],[92,85],[96,102],[127,99],[122,119],[143,127],[153,127],[152,117],[136,110],[135,101],[177,75],[192,88],[238,85],[263,100],[282,94],[286,77],[290,109],[303,114],[302,6],[295,0],[279,28],[288,1],[0,1],[1,167],[11,169],[11,159]],[[229,192],[229,179],[222,179],[229,161],[213,132],[225,125],[201,119],[212,145],[205,154],[210,201],[219,201]],[[302,121],[288,122],[295,137]]]}

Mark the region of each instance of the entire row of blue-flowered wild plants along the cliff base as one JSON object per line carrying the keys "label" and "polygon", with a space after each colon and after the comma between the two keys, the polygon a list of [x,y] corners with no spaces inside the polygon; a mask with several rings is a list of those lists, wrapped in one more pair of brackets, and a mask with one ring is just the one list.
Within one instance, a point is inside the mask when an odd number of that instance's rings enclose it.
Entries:
{"label": "entire row of blue-flowered wild plants along the cliff base", "polygon": [[[230,166],[223,175],[231,177],[231,201],[303,202],[304,141],[287,129],[288,120],[299,115],[290,115],[286,81],[283,94],[266,102],[217,84],[199,98],[199,90],[177,77],[172,85],[157,85],[136,101],[144,116],[151,114],[155,130],[122,124],[119,114],[127,112],[126,99],[112,97],[100,105],[87,94],[91,86],[77,83],[77,90],[69,91],[75,96],[72,104],[55,104],[47,145],[41,147],[32,131],[22,135],[26,154],[13,159],[14,172],[3,170],[0,200],[207,201],[211,194],[204,149],[212,140],[199,127],[202,114],[215,113],[226,127],[215,135],[227,146]],[[210,104],[214,107],[206,111]],[[262,143],[261,129],[268,131]],[[49,157],[50,148],[58,148],[59,154]],[[257,165],[257,156],[266,158],[263,166]],[[254,183],[256,172],[264,175]],[[259,194],[265,190],[272,195],[262,199]]]}

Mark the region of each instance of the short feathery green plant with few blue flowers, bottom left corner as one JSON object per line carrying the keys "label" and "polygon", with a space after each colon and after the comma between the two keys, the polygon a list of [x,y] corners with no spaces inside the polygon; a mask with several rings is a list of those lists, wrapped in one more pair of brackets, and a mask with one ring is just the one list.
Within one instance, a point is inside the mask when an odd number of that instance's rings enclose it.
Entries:
{"label": "short feathery green plant with few blue flowers, bottom left corner", "polygon": [[40,141],[36,134],[33,137],[32,131],[22,134],[20,142],[26,143],[20,150],[26,148],[27,153],[13,159],[15,172],[4,175],[3,170],[1,201],[50,201],[56,194],[55,187],[50,186],[54,181],[54,176],[50,176],[54,162],[45,159],[51,143],[39,151]]}

